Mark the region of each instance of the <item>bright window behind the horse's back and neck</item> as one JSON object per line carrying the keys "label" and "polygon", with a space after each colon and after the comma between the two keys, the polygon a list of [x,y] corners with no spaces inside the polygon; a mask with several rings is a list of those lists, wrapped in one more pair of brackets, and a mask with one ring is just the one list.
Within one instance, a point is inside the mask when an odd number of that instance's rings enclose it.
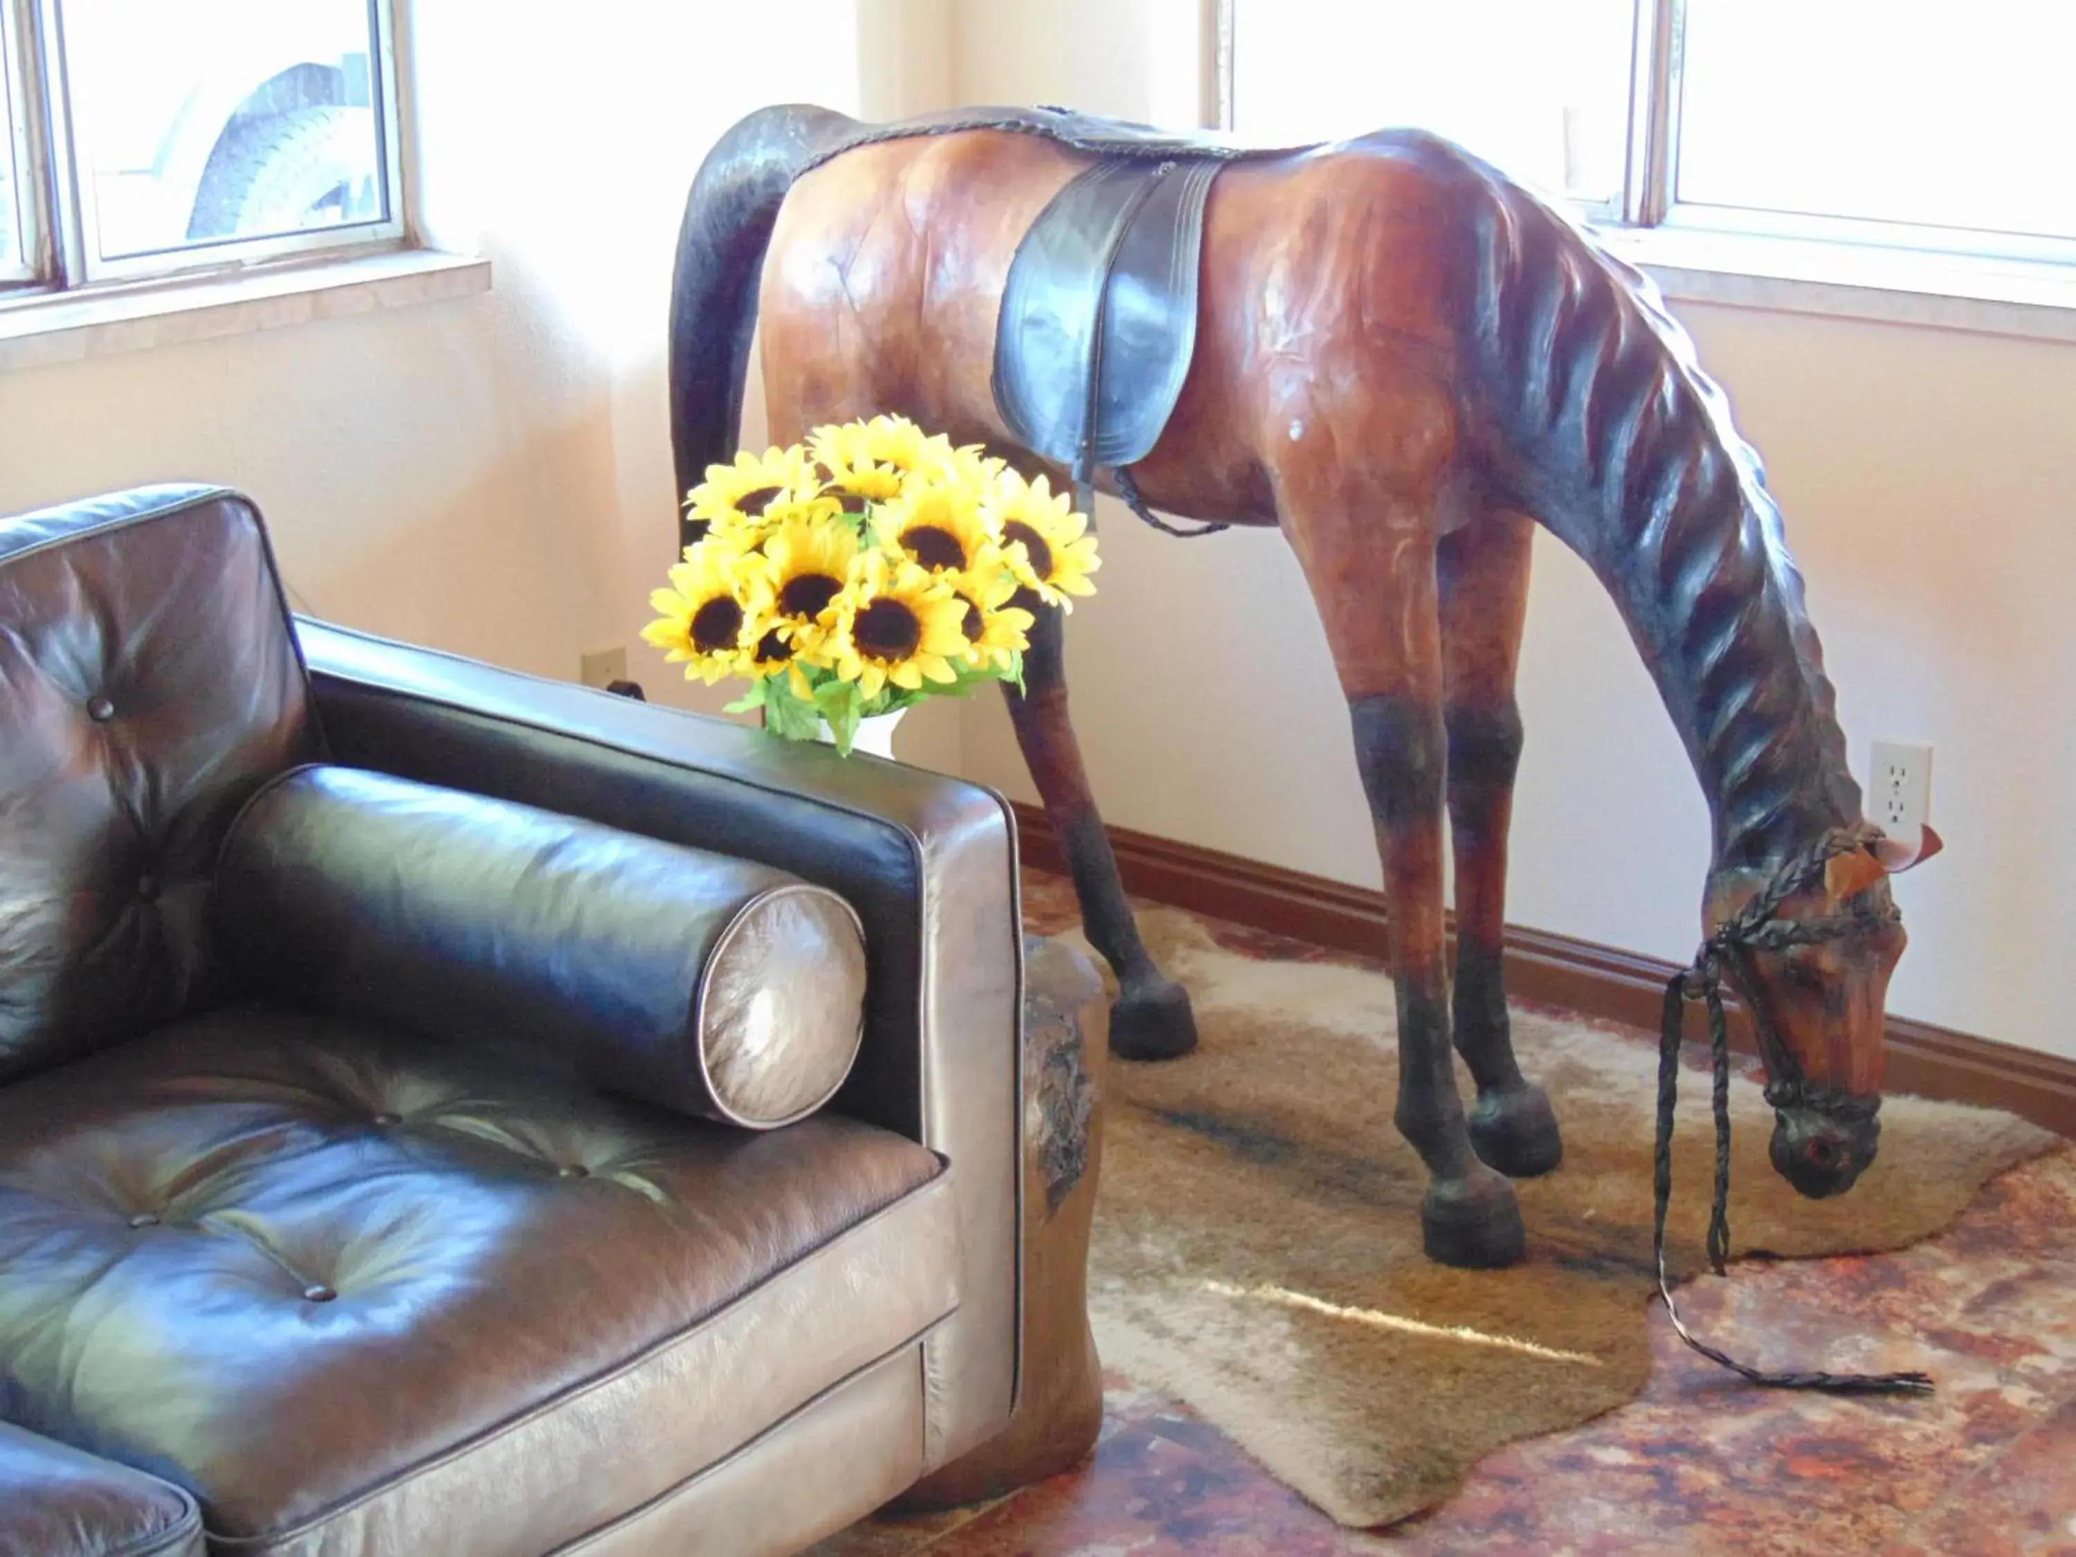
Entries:
{"label": "bright window behind the horse's back and neck", "polygon": [[2076,264],[2076,4],[1225,0],[1250,141],[1424,125],[1599,222]]}

